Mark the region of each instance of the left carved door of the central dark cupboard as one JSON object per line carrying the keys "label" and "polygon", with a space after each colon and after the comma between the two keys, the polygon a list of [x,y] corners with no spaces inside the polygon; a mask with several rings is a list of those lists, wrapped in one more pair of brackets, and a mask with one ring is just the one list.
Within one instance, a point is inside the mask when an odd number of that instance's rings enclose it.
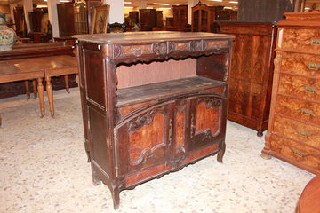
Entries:
{"label": "left carved door of the central dark cupboard", "polygon": [[[140,110],[116,127],[116,159],[120,174],[130,176],[165,165],[172,146],[173,103],[168,101]],[[165,170],[165,166],[163,168]],[[144,178],[146,174],[139,176]]]}

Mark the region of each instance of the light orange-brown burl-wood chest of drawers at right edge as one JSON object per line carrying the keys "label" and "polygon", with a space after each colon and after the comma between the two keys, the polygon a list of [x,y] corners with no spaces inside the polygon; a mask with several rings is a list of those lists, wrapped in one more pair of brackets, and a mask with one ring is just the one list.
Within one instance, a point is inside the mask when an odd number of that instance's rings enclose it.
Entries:
{"label": "light orange-brown burl-wood chest of drawers at right edge", "polygon": [[320,173],[320,12],[285,13],[278,39],[266,144],[270,155]]}

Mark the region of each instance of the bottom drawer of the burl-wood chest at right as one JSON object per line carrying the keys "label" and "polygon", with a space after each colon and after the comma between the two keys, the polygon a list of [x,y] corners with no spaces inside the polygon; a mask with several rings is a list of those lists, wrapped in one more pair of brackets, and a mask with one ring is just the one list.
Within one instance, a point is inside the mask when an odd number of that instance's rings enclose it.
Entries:
{"label": "bottom drawer of the burl-wood chest at right", "polygon": [[290,139],[272,135],[270,139],[271,150],[282,154],[293,162],[300,162],[315,170],[320,170],[320,150],[301,146]]}

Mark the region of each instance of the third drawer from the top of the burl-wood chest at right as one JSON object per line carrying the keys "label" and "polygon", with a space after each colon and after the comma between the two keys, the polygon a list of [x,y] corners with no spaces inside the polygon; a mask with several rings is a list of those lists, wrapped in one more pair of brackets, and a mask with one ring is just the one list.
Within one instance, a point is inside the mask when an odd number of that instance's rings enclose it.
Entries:
{"label": "third drawer from the top of the burl-wood chest at right", "polygon": [[320,99],[320,79],[300,75],[280,75],[278,92],[281,94],[303,97],[304,99]]}

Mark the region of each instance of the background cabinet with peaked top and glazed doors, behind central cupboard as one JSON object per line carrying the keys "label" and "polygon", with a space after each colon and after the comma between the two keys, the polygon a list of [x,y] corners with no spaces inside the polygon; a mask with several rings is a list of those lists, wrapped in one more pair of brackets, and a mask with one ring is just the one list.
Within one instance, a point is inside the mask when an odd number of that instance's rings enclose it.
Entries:
{"label": "background cabinet with peaked top and glazed doors, behind central cupboard", "polygon": [[191,31],[212,32],[214,29],[215,7],[202,4],[200,1],[192,7]]}

